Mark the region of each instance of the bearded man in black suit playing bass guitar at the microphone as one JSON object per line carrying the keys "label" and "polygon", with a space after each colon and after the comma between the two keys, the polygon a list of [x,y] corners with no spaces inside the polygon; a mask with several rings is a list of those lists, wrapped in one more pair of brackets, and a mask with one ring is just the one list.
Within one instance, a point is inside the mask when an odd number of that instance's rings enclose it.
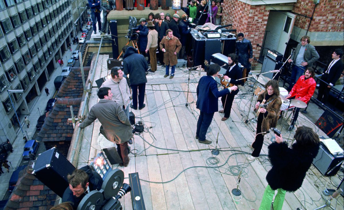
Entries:
{"label": "bearded man in black suit playing bass guitar at the microphone", "polygon": [[[238,66],[238,59],[237,59],[236,54],[234,53],[229,54],[228,55],[228,69],[226,73],[224,74],[223,78],[231,84],[239,85],[242,82],[241,80],[239,80],[241,79],[242,75],[243,73],[241,72],[241,69]],[[239,81],[236,81],[236,80],[239,80]],[[234,101],[234,96],[238,94],[238,92],[239,92],[239,88],[237,88],[236,91],[233,91],[221,97],[223,110],[220,110],[218,112],[225,113],[225,116],[223,116],[221,119],[222,121],[225,121],[229,118],[230,110],[232,109],[232,104]]]}

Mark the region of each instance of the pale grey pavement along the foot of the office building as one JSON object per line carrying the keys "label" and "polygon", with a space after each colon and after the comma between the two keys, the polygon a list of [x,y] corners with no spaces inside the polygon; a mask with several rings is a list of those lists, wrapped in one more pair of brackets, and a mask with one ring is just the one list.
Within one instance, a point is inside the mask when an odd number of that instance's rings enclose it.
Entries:
{"label": "pale grey pavement along the foot of the office building", "polygon": [[[78,38],[80,38],[81,33],[77,34]],[[73,39],[73,38],[72,38]],[[71,43],[72,51],[75,50],[78,45]],[[67,49],[67,51],[63,54],[63,62],[64,66],[67,66],[67,58],[71,58],[72,52]],[[54,86],[54,80],[57,76],[59,76],[62,73],[62,67],[60,67],[60,64],[56,62],[57,68],[55,71],[50,75],[50,80],[46,82],[45,86],[43,87],[41,91],[41,95],[35,97],[31,102],[28,103],[28,107],[30,109],[29,115],[21,115],[20,116],[20,123],[23,128],[24,134],[28,137],[28,140],[32,139],[32,137],[35,134],[36,131],[36,124],[38,118],[44,114],[45,107],[47,101],[53,97],[53,94],[55,93],[55,86]],[[49,95],[46,95],[44,88],[47,87],[49,89]],[[29,128],[24,123],[24,117],[28,118],[30,120],[30,126]],[[13,146],[13,153],[9,153],[7,160],[9,161],[10,165],[10,172],[8,173],[5,169],[3,171],[4,174],[1,174],[0,178],[0,200],[3,200],[3,197],[6,195],[6,192],[8,190],[8,182],[11,178],[12,172],[20,165],[22,161],[22,154],[23,154],[23,147],[24,147],[24,140],[23,135],[21,133],[21,130],[18,126],[17,128],[17,138],[12,143]],[[43,146],[43,145],[42,145]],[[44,149],[45,150],[45,149]]]}

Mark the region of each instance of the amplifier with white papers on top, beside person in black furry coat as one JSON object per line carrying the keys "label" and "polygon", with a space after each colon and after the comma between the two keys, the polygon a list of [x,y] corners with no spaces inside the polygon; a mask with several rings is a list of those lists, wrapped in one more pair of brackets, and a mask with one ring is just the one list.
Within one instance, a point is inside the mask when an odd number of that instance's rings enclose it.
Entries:
{"label": "amplifier with white papers on top, beside person in black furry coat", "polygon": [[327,147],[320,142],[318,155],[313,159],[313,165],[324,176],[336,175],[344,160],[343,154],[331,154]]}

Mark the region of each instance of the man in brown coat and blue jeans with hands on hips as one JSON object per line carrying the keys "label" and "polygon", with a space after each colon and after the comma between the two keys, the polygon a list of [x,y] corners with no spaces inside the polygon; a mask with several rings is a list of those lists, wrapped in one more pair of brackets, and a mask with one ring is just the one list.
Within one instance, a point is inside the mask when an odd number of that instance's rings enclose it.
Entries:
{"label": "man in brown coat and blue jeans with hands on hips", "polygon": [[169,76],[170,66],[172,66],[170,79],[174,77],[175,65],[178,63],[177,54],[181,48],[182,44],[179,39],[173,36],[173,31],[171,29],[168,29],[166,31],[166,36],[164,36],[160,42],[160,49],[164,52],[164,63],[166,64],[166,74],[164,77]]}

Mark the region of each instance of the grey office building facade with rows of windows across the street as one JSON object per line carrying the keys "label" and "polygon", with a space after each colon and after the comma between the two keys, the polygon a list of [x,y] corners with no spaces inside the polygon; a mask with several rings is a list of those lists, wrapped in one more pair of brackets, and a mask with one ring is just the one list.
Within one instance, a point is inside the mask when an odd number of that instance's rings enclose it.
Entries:
{"label": "grey office building facade with rows of windows across the street", "polygon": [[[73,31],[69,0],[0,0],[0,138],[14,139],[19,115],[41,94]],[[7,90],[13,93],[10,103]]]}

